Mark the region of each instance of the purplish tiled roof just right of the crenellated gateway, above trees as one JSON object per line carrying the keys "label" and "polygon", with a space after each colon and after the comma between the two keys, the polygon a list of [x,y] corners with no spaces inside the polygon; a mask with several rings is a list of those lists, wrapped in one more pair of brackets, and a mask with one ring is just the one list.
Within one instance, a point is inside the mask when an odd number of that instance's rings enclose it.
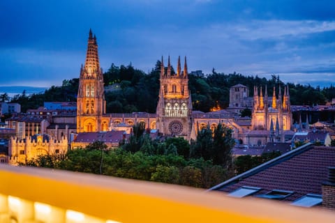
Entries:
{"label": "purplish tiled roof just right of the crenellated gateway, above trees", "polygon": [[103,141],[105,143],[118,143],[123,139],[124,131],[110,131],[110,132],[80,132],[75,138],[75,142]]}

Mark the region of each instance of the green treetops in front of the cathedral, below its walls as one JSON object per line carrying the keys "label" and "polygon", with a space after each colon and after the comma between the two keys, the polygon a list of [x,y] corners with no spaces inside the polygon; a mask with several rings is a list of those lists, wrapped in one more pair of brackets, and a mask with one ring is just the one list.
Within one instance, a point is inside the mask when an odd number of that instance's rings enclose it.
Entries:
{"label": "green treetops in front of the cathedral, below its walls", "polygon": [[[144,132],[141,123],[133,129],[131,138],[121,142],[120,148],[110,150],[101,141],[96,141],[64,155],[40,155],[28,160],[26,165],[204,188],[232,176],[230,151],[234,139],[225,125],[218,125],[210,134],[204,133],[207,143],[197,138],[191,148],[181,137],[153,140]],[[202,144],[211,145],[206,156],[195,149]]]}

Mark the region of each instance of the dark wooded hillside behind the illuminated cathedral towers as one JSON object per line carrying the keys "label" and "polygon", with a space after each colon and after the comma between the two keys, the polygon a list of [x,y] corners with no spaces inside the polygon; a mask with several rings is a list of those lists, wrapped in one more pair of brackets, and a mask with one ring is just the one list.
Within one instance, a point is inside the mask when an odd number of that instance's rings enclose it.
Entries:
{"label": "dark wooded hillside behind the illuminated cathedral towers", "polygon": [[[155,67],[147,74],[134,68],[131,64],[118,67],[112,63],[110,69],[104,74],[105,86],[115,86],[114,89],[105,93],[107,112],[156,112],[160,72],[161,61],[157,61]],[[251,96],[253,86],[267,86],[268,94],[272,95],[274,86],[278,89],[279,85],[282,88],[284,85],[276,75],[266,79],[257,75],[248,77],[237,73],[226,75],[214,69],[211,74],[203,77],[189,75],[193,109],[209,112],[212,107],[228,107],[229,89],[235,84],[248,86]],[[325,102],[335,98],[335,86],[323,89],[292,83],[289,83],[288,86],[292,105],[324,105]],[[15,95],[11,102],[20,103],[22,112],[26,112],[27,109],[43,106],[45,101],[75,101],[77,89],[77,78],[64,80],[62,86],[52,86],[45,93],[26,95],[23,92]],[[8,95],[2,95],[0,100],[8,100]]]}

